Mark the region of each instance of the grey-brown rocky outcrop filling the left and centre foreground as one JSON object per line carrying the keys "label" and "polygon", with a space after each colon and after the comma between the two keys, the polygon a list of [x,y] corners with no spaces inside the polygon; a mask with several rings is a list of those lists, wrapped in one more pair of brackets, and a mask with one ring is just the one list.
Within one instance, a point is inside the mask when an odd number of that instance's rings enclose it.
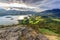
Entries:
{"label": "grey-brown rocky outcrop filling the left and centre foreground", "polygon": [[0,29],[0,40],[48,40],[32,28],[9,27]]}

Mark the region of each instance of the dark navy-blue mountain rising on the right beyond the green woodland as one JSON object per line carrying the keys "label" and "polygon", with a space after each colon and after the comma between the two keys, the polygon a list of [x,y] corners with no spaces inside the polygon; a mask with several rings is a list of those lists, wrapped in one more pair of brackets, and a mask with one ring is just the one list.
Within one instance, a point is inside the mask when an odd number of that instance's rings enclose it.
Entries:
{"label": "dark navy-blue mountain rising on the right beyond the green woodland", "polygon": [[45,11],[39,12],[38,15],[60,18],[60,9],[45,10]]}

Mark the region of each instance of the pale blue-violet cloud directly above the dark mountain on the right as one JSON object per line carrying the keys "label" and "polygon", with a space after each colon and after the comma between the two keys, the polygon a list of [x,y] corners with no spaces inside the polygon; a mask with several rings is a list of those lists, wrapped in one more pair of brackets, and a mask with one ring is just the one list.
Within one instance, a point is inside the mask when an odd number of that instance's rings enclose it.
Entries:
{"label": "pale blue-violet cloud directly above the dark mountain on the right", "polygon": [[60,0],[50,0],[50,1],[43,1],[41,4],[37,5],[38,7],[40,7],[41,9],[56,9],[59,8],[60,9]]}

